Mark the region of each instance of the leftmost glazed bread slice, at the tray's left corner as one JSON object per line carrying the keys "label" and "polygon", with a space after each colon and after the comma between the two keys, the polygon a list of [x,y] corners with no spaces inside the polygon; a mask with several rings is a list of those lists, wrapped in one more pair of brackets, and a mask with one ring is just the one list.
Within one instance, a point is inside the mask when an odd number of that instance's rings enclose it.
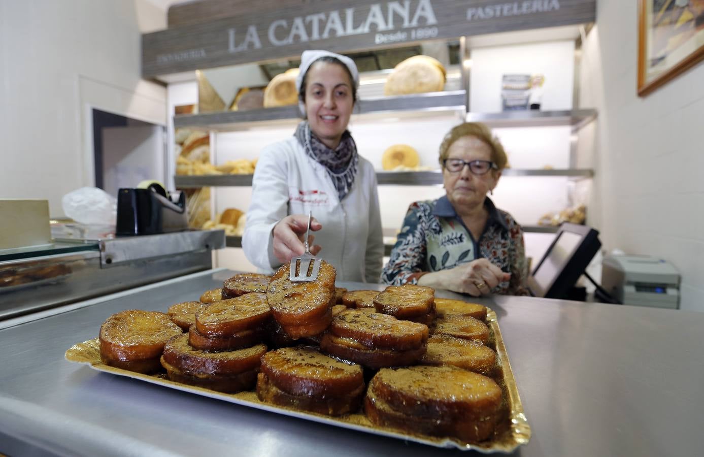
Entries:
{"label": "leftmost glazed bread slice, at the tray's left corner", "polygon": [[[183,333],[169,316],[158,311],[128,310],[115,313],[100,327],[100,358],[125,370],[149,373],[157,365],[166,342]],[[155,362],[156,361],[156,362]]]}

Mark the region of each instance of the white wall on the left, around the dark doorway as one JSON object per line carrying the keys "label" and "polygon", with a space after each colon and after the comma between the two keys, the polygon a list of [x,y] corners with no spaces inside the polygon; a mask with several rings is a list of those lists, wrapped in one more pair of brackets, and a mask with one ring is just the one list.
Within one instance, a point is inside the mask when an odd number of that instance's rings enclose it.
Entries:
{"label": "white wall on the left, around the dark doorway", "polygon": [[0,1],[0,197],[63,215],[94,184],[91,108],[165,125],[165,89],[140,79],[141,34],[165,26],[145,0]]}

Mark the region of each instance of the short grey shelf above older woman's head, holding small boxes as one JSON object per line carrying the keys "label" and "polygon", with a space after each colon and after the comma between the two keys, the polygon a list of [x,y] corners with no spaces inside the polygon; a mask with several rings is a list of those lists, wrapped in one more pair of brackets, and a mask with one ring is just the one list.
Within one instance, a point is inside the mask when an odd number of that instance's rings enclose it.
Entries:
{"label": "short grey shelf above older woman's head, holding small boxes", "polygon": [[503,111],[501,113],[467,113],[467,122],[481,122],[489,127],[547,127],[571,125],[579,130],[596,119],[595,109],[572,111]]}

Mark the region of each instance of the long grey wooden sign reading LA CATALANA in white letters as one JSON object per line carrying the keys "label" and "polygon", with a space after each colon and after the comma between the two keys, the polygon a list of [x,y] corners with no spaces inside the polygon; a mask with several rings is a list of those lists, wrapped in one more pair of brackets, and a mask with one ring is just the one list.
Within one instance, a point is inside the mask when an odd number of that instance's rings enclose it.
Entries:
{"label": "long grey wooden sign reading LA CATALANA in white letters", "polygon": [[306,49],[374,49],[596,18],[596,0],[355,1],[348,8],[334,8],[344,2],[329,1],[327,10],[323,4],[142,35],[142,75],[292,57]]}

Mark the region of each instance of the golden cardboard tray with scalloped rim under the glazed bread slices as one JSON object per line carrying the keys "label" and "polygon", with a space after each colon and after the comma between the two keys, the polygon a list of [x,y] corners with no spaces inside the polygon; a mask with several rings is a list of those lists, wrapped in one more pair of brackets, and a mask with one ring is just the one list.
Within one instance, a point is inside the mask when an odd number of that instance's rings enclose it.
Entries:
{"label": "golden cardboard tray with scalloped rim under the glazed bread slices", "polygon": [[[500,423],[497,426],[494,439],[482,443],[467,443],[452,437],[432,437],[425,434],[408,434],[398,430],[379,427],[372,424],[363,413],[347,414],[341,417],[332,418],[327,415],[318,415],[297,411],[294,409],[283,408],[281,406],[272,405],[260,401],[256,393],[239,392],[237,394],[223,394],[202,387],[189,386],[180,382],[173,382],[165,378],[165,375],[143,375],[142,373],[134,373],[120,368],[113,368],[104,365],[100,360],[100,344],[98,339],[90,339],[87,342],[75,344],[68,349],[65,354],[66,360],[77,363],[87,363],[91,368],[113,375],[132,377],[134,379],[159,384],[171,389],[181,390],[183,392],[191,392],[192,394],[208,396],[212,399],[229,401],[250,408],[257,408],[272,413],[288,415],[294,418],[312,420],[336,427],[343,427],[351,430],[359,430],[371,434],[382,435],[384,437],[392,437],[403,439],[410,442],[427,444],[440,448],[455,448],[463,451],[479,451],[482,453],[510,453],[515,451],[518,446],[527,444],[531,437],[531,429],[528,421],[523,413],[523,406],[518,389],[516,387],[513,371],[508,361],[508,354],[501,337],[501,331],[498,328],[496,321],[496,313],[487,308],[486,323],[489,325],[490,346],[496,349],[496,364],[499,368],[499,373],[503,373],[503,379],[497,379],[498,384],[503,389],[506,414],[502,416]],[[493,344],[492,344],[493,343]]]}

